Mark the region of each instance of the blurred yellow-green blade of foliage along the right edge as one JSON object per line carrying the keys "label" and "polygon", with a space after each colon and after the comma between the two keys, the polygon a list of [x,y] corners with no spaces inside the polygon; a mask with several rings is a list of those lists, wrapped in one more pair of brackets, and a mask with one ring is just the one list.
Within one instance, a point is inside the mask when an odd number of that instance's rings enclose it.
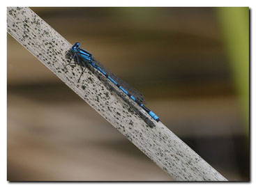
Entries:
{"label": "blurred yellow-green blade of foliage along the right edge", "polygon": [[249,135],[249,8],[218,8],[218,16]]}

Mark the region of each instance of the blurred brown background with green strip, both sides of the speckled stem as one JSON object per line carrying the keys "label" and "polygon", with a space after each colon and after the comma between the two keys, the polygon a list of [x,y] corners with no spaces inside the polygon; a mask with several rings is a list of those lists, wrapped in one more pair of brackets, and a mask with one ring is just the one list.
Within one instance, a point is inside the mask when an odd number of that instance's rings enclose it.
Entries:
{"label": "blurred brown background with green strip, both sides of the speckled stem", "polygon": [[[249,180],[248,8],[31,8],[144,94],[228,180]],[[11,36],[8,180],[172,180]]]}

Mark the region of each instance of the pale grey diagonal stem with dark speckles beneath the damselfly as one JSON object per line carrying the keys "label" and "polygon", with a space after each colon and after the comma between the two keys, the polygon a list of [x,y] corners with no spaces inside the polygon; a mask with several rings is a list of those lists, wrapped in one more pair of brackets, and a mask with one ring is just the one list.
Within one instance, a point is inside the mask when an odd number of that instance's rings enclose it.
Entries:
{"label": "pale grey diagonal stem with dark speckles beneath the damselfly", "polygon": [[72,45],[30,8],[7,8],[7,31],[175,180],[227,181],[98,72],[87,69],[77,83],[81,68],[65,66]]}

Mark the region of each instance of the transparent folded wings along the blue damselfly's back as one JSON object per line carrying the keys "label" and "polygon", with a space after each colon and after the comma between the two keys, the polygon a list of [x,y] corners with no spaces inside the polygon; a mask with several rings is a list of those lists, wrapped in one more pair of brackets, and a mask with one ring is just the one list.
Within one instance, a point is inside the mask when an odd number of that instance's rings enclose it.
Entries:
{"label": "transparent folded wings along the blue damselfly's back", "polygon": [[142,93],[140,93],[139,91],[136,91],[135,88],[133,88],[133,87],[129,86],[128,84],[126,84],[126,82],[124,82],[119,77],[116,77],[112,72],[110,72],[110,70],[105,68],[105,66],[103,64],[101,64],[100,62],[96,61],[96,59],[93,59],[93,63],[98,65],[98,67],[101,68],[104,72],[106,72],[107,75],[110,75],[110,77],[112,77],[112,79],[114,79],[114,81],[116,81],[117,84],[119,84],[124,89],[126,89],[126,91],[128,91],[128,93],[130,93],[130,95],[133,95],[133,97],[135,97],[138,101],[142,102],[143,104],[146,104],[145,97],[144,97],[144,95],[142,95]]}

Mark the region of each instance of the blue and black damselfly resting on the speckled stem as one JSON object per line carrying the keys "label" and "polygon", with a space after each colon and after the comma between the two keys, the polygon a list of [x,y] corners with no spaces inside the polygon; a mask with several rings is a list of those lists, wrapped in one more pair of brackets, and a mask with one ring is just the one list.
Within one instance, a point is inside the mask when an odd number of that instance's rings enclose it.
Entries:
{"label": "blue and black damselfly resting on the speckled stem", "polygon": [[153,113],[150,109],[146,108],[143,103],[145,103],[145,98],[142,95],[142,93],[136,91],[134,88],[128,86],[123,80],[116,77],[110,70],[107,70],[105,66],[98,61],[96,61],[95,58],[93,58],[93,55],[86,50],[80,48],[80,43],[76,42],[73,47],[71,47],[70,52],[73,54],[73,59],[75,60],[75,63],[78,65],[81,65],[84,67],[84,70],[82,70],[82,73],[78,79],[80,81],[84,71],[86,70],[86,63],[91,65],[93,68],[98,70],[101,74],[103,74],[107,79],[112,81],[114,85],[116,85],[123,93],[126,93],[132,100],[134,100],[146,113],[149,113],[149,116],[151,116],[154,120],[157,122],[160,121],[158,116],[156,116],[155,113]]}

